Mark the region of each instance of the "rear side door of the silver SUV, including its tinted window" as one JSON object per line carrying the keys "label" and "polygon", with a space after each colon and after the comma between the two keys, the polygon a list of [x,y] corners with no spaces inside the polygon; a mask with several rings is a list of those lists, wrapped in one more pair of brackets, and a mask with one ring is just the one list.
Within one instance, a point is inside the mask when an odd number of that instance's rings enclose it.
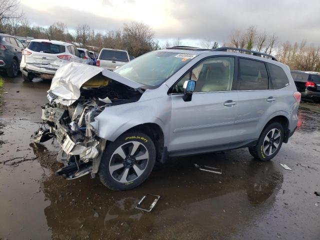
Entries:
{"label": "rear side door of the silver SUV, including its tinted window", "polygon": [[238,101],[233,142],[259,137],[259,122],[274,102],[266,64],[252,58],[238,58]]}

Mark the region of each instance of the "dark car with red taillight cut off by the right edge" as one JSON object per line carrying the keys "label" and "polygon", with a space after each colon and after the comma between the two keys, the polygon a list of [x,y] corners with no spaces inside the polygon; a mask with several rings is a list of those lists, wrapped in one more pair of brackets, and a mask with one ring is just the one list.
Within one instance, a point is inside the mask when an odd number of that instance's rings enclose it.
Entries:
{"label": "dark car with red taillight cut off by the right edge", "polygon": [[291,75],[302,98],[320,102],[320,72],[291,71]]}

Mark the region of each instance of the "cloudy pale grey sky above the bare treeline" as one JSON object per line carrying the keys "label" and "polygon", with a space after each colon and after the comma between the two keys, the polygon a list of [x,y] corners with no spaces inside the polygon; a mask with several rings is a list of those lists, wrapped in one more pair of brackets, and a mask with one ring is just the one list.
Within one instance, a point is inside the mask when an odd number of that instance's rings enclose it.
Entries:
{"label": "cloudy pale grey sky above the bare treeline", "polygon": [[226,42],[233,29],[253,24],[280,42],[320,45],[320,0],[21,0],[20,6],[31,24],[62,21],[70,31],[83,23],[105,32],[140,21],[160,42],[179,37],[195,45],[202,39]]}

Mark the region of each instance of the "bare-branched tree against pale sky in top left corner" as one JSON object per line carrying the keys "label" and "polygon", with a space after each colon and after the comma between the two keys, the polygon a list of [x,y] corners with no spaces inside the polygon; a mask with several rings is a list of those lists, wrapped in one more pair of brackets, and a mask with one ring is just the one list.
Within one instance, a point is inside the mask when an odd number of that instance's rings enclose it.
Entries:
{"label": "bare-branched tree against pale sky in top left corner", "polygon": [[18,0],[0,0],[0,30],[9,20],[23,16],[23,12],[17,12],[19,4]]}

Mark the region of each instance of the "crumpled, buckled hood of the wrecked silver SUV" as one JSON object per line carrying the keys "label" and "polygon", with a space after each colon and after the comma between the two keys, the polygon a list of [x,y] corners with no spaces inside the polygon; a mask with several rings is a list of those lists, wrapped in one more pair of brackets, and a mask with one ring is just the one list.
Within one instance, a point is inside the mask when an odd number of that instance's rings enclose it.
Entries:
{"label": "crumpled, buckled hood of the wrecked silver SUV", "polygon": [[131,88],[142,87],[141,83],[132,81],[110,70],[78,62],[69,62],[61,65],[54,74],[48,92],[68,100],[71,105],[80,97],[80,87],[95,75],[102,73],[106,80],[115,80]]}

